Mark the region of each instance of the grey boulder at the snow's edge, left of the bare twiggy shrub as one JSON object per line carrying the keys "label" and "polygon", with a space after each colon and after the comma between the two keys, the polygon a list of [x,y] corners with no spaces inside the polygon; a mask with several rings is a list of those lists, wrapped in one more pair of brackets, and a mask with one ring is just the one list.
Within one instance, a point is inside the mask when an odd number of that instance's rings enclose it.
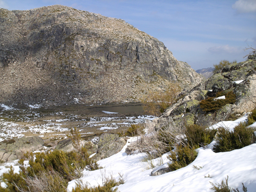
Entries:
{"label": "grey boulder at the snow's edge, left of the bare twiggy shrub", "polygon": [[99,137],[98,150],[94,159],[98,161],[115,155],[122,150],[125,144],[124,137],[119,137],[117,134],[102,134]]}

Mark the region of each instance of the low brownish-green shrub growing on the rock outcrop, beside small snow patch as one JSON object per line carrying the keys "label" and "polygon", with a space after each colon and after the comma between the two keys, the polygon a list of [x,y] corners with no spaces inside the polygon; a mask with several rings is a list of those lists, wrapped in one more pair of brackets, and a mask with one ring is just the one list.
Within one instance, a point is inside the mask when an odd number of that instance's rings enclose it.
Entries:
{"label": "low brownish-green shrub growing on the rock outcrop, beside small snow patch", "polygon": [[[216,99],[216,97],[221,97],[223,95],[225,95],[225,99]],[[236,102],[236,95],[232,91],[229,91],[227,93],[219,92],[217,93],[216,97],[209,97],[200,101],[200,108],[203,111],[208,112],[219,110],[222,106],[228,103],[233,104],[234,102]]]}

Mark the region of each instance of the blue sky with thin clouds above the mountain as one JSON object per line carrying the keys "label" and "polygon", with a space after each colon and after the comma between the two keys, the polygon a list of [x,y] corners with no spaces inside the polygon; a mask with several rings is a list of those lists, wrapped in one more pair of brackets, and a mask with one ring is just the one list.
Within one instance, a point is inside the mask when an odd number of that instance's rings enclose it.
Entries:
{"label": "blue sky with thin clouds above the mountain", "polygon": [[256,47],[256,0],[0,0],[9,10],[56,4],[124,19],[195,70],[243,61]]}

